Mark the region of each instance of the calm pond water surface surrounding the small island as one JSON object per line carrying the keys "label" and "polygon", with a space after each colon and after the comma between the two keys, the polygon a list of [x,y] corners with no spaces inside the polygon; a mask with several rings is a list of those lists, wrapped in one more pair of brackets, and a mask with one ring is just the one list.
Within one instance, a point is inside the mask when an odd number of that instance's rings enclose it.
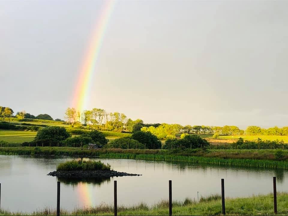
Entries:
{"label": "calm pond water surface surrounding the small island", "polygon": [[[113,181],[117,180],[119,205],[146,202],[153,205],[168,199],[168,180],[172,180],[173,199],[183,200],[221,193],[225,179],[225,196],[241,197],[273,191],[272,177],[277,177],[277,190],[288,191],[288,172],[273,169],[221,167],[184,162],[101,159],[113,170],[143,176],[109,179],[85,179],[71,182],[47,176],[56,166],[71,157],[29,157],[0,155],[1,208],[31,212],[44,207],[56,208],[56,182],[61,181],[61,208],[73,210],[101,203],[113,204]],[[90,158],[91,160],[99,160]]]}

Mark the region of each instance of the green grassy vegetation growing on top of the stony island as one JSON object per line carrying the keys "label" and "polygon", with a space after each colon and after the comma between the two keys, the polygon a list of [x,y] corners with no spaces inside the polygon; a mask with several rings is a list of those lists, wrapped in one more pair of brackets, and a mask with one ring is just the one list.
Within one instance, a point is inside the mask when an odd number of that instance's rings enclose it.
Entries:
{"label": "green grassy vegetation growing on top of the stony island", "polygon": [[110,170],[111,166],[109,164],[105,165],[101,161],[83,161],[83,160],[73,160],[66,161],[64,163],[58,164],[57,171],[71,171],[71,170]]}

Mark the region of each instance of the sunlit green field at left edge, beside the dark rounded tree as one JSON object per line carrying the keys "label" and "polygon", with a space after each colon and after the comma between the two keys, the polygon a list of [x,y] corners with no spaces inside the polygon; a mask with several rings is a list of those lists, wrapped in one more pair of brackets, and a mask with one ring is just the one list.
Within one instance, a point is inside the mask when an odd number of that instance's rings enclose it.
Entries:
{"label": "sunlit green field at left edge, beside the dark rounded tree", "polygon": [[32,141],[37,132],[0,130],[0,140],[8,143],[23,143]]}

